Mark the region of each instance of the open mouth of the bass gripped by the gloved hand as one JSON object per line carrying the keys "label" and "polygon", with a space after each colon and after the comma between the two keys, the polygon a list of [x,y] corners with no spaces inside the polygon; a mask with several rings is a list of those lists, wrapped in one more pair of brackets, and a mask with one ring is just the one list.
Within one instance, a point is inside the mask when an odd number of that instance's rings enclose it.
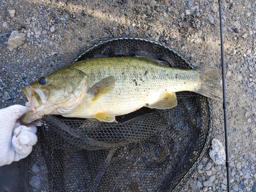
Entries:
{"label": "open mouth of the bass gripped by the gloved hand", "polygon": [[42,117],[41,110],[39,108],[44,105],[47,101],[47,94],[40,88],[32,88],[31,86],[26,86],[22,88],[25,93],[28,102],[30,104],[29,110],[20,118],[20,122],[23,124],[31,123],[34,120],[40,119]]}

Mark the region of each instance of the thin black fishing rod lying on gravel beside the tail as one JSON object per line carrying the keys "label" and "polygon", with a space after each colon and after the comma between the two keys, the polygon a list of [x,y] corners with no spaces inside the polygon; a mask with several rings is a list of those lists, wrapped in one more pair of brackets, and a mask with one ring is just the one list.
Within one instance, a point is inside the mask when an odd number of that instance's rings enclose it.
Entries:
{"label": "thin black fishing rod lying on gravel beside the tail", "polygon": [[226,152],[226,168],[227,168],[227,191],[230,191],[229,184],[229,153],[228,153],[228,132],[227,132],[227,102],[226,102],[226,83],[225,83],[225,61],[223,48],[223,34],[222,34],[222,9],[221,0],[219,0],[220,13],[220,35],[221,35],[221,65],[222,65],[222,87],[223,87],[223,112],[224,112],[224,127],[225,127],[225,152]]}

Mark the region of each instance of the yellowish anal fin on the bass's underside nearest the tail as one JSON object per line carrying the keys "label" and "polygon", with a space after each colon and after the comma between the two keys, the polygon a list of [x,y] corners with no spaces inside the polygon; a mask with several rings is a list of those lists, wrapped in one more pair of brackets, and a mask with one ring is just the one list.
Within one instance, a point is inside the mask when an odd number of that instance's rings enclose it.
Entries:
{"label": "yellowish anal fin on the bass's underside nearest the tail", "polygon": [[146,104],[148,108],[155,108],[160,110],[170,109],[177,105],[177,98],[175,93],[166,92],[164,96],[156,103]]}

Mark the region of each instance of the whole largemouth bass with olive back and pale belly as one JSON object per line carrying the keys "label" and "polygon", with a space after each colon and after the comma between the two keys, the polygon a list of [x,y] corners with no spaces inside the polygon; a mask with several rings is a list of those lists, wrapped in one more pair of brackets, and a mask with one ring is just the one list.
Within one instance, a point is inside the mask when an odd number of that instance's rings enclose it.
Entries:
{"label": "whole largemouth bass with olive back and pale belly", "polygon": [[20,119],[62,115],[113,122],[143,106],[170,109],[176,92],[221,97],[220,70],[181,70],[146,57],[92,58],[72,63],[22,88],[30,109]]}

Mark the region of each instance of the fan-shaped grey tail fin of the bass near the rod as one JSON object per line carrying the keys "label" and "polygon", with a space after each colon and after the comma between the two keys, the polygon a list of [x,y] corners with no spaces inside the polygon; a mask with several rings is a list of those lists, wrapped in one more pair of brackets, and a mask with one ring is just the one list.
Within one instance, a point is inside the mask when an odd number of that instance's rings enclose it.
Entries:
{"label": "fan-shaped grey tail fin of the bass near the rod", "polygon": [[212,99],[222,98],[221,70],[204,67],[200,72],[200,87],[197,93]]}

